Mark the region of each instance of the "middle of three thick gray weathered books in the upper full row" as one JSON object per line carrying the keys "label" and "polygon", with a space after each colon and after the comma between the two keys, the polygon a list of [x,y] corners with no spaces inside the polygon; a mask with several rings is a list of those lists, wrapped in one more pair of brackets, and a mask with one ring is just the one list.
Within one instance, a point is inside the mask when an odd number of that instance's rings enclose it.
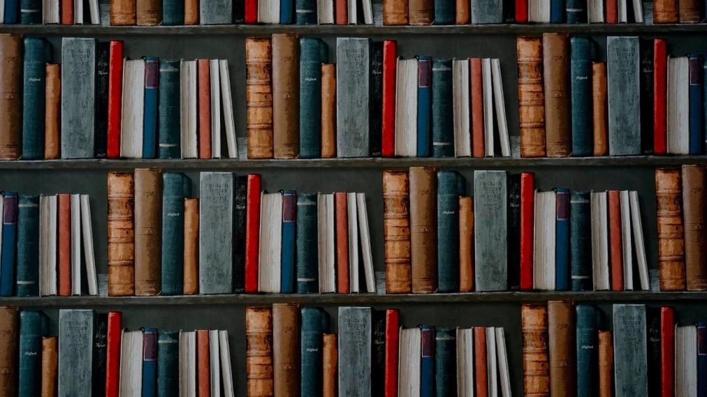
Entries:
{"label": "middle of three thick gray weathered books in the upper full row", "polygon": [[369,157],[370,39],[337,37],[337,154]]}

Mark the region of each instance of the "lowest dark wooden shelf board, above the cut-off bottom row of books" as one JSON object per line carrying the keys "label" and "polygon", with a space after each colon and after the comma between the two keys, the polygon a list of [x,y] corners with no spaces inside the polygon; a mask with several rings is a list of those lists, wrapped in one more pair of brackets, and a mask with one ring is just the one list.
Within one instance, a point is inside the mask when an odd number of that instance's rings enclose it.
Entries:
{"label": "lowest dark wooden shelf board, above the cut-off bottom row of books", "polygon": [[472,292],[466,294],[312,294],[312,295],[189,295],[174,297],[6,297],[1,306],[18,307],[117,307],[161,305],[267,305],[300,304],[462,304],[462,303],[527,303],[549,300],[578,302],[663,302],[703,301],[707,292]]}

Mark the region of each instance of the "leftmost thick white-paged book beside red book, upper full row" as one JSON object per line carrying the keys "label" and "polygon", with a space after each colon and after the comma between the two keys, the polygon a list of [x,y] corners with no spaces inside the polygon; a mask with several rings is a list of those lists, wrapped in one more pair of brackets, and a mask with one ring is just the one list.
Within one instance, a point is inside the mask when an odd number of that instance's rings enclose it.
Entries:
{"label": "leftmost thick white-paged book beside red book, upper full row", "polygon": [[123,60],[120,157],[142,158],[145,115],[145,59]]}

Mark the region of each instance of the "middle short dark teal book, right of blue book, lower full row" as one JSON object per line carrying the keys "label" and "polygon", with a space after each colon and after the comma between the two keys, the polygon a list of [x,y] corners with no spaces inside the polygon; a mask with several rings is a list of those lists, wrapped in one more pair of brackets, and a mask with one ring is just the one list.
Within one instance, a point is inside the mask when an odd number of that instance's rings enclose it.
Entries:
{"label": "middle short dark teal book, right of blue book, lower full row", "polygon": [[297,293],[319,293],[317,194],[297,195]]}

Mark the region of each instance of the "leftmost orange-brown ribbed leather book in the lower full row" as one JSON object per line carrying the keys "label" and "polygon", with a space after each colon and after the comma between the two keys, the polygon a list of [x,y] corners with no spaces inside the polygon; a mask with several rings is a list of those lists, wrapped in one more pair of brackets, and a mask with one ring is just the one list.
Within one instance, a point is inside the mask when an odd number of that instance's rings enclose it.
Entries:
{"label": "leftmost orange-brown ribbed leather book in the lower full row", "polygon": [[133,174],[108,172],[108,295],[135,295]]}

